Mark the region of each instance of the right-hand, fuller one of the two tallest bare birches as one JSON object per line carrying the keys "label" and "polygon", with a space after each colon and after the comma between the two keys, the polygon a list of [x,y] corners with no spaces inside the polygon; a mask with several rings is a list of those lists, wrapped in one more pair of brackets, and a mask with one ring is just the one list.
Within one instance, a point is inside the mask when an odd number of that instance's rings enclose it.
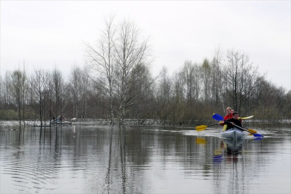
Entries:
{"label": "right-hand, fuller one of the two tallest bare birches", "polygon": [[117,41],[114,43],[117,63],[117,116],[119,123],[124,124],[132,100],[129,89],[134,84],[133,78],[139,77],[140,72],[148,68],[151,61],[147,61],[148,38],[141,39],[140,30],[134,21],[124,19],[118,32]]}

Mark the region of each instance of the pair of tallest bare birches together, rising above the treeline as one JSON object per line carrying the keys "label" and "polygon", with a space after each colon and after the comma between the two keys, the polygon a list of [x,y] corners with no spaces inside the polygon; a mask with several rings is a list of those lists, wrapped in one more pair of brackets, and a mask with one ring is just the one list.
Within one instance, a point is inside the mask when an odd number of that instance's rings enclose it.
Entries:
{"label": "pair of tallest bare birches together, rising above the treeline", "polygon": [[[85,43],[86,62],[97,72],[94,81],[105,97],[100,100],[108,107],[110,123],[114,123],[116,115],[119,124],[124,124],[129,108],[137,97],[130,90],[134,88],[135,81],[144,79],[141,73],[151,63],[147,61],[148,38],[141,40],[137,25],[129,20],[123,20],[115,27],[113,16],[110,16],[105,24],[96,48]],[[147,87],[150,84],[152,82]]]}

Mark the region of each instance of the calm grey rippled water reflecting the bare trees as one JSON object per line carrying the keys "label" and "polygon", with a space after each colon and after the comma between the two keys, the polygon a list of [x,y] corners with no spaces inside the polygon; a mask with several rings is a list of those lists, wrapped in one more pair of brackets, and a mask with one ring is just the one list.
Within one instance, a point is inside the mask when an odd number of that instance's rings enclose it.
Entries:
{"label": "calm grey rippled water reflecting the bare trees", "polygon": [[[250,124],[251,125],[251,124]],[[291,125],[71,126],[0,131],[0,193],[290,194]]]}

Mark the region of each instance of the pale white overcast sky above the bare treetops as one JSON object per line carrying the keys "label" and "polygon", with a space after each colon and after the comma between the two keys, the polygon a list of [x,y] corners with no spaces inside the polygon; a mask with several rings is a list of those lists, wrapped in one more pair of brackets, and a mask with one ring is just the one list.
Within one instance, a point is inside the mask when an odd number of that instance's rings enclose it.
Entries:
{"label": "pale white overcast sky above the bare treetops", "polygon": [[185,60],[212,59],[215,48],[249,55],[261,74],[291,89],[291,1],[0,0],[0,70],[33,67],[63,73],[84,65],[82,41],[94,44],[104,16],[132,17],[150,36],[153,71],[170,74]]}

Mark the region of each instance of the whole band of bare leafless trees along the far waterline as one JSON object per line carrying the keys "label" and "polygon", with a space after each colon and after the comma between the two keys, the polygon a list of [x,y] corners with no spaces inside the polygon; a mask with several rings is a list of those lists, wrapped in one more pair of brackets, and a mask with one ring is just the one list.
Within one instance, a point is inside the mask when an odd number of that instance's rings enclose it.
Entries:
{"label": "whole band of bare leafless trees along the far waterline", "polygon": [[[106,20],[95,46],[84,42],[86,65],[74,65],[67,79],[57,66],[34,69],[25,64],[0,77],[0,120],[48,121],[102,118],[112,125],[126,119],[165,125],[214,122],[213,113],[230,106],[241,116],[262,122],[291,119],[291,91],[266,81],[242,51],[216,49],[211,60],[185,63],[172,75],[166,67],[157,77],[150,72],[148,38],[124,20]],[[43,123],[44,124],[44,123]]]}

